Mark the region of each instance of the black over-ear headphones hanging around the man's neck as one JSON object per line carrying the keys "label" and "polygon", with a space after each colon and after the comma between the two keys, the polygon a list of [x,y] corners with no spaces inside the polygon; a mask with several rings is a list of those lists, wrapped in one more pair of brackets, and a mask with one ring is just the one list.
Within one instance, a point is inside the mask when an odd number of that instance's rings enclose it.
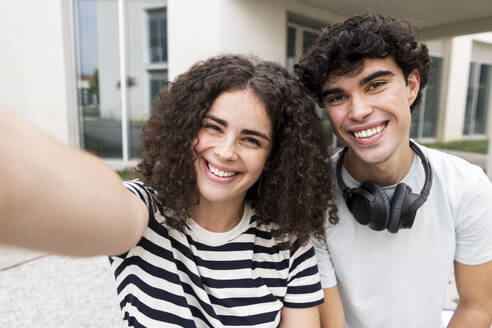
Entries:
{"label": "black over-ear headphones hanging around the man's neck", "polygon": [[419,194],[414,194],[412,188],[404,183],[396,186],[391,200],[383,188],[375,182],[366,181],[359,187],[350,189],[342,179],[343,157],[348,148],[345,147],[337,162],[337,180],[342,189],[347,207],[357,222],[368,225],[371,229],[381,231],[388,229],[391,233],[406,228],[410,229],[415,215],[429,196],[432,186],[432,170],[429,161],[420,148],[410,140],[410,147],[422,160],[425,170],[425,183]]}

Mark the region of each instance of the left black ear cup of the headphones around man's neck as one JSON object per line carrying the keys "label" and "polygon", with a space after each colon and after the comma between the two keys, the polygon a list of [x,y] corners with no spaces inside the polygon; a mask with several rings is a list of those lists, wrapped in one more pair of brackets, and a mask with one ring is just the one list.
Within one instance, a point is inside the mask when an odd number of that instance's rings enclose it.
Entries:
{"label": "left black ear cup of the headphones around man's neck", "polygon": [[367,181],[352,189],[347,205],[360,224],[377,231],[388,226],[390,200],[378,184]]}

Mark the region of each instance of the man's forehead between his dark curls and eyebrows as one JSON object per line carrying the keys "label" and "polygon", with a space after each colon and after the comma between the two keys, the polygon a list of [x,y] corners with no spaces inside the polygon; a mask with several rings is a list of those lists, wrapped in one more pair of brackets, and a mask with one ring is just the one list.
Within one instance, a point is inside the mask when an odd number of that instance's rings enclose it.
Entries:
{"label": "man's forehead between his dark curls and eyebrows", "polygon": [[321,90],[325,91],[331,88],[347,87],[353,84],[358,85],[362,79],[378,71],[389,71],[394,76],[401,75],[403,77],[401,69],[392,57],[366,58],[363,60],[362,66],[353,72],[343,75],[337,75],[336,73],[330,74]]}

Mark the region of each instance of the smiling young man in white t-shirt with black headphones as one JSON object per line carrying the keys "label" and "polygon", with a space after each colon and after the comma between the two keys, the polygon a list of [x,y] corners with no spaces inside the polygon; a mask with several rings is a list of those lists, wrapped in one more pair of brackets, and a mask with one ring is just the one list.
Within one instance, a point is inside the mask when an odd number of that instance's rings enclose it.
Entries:
{"label": "smiling young man in white t-shirt with black headphones", "polygon": [[324,29],[295,67],[346,145],[332,158],[340,221],[317,250],[322,321],[440,327],[454,264],[449,327],[492,323],[492,185],[479,167],[410,142],[429,64],[407,22],[363,14]]}

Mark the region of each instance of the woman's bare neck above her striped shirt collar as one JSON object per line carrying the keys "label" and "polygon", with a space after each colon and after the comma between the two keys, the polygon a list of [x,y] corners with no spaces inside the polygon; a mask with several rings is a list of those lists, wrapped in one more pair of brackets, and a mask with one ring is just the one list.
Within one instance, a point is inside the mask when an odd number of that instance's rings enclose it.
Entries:
{"label": "woman's bare neck above her striped shirt collar", "polygon": [[244,199],[224,203],[200,199],[198,205],[188,210],[191,218],[203,228],[213,232],[226,232],[234,228],[244,213]]}

